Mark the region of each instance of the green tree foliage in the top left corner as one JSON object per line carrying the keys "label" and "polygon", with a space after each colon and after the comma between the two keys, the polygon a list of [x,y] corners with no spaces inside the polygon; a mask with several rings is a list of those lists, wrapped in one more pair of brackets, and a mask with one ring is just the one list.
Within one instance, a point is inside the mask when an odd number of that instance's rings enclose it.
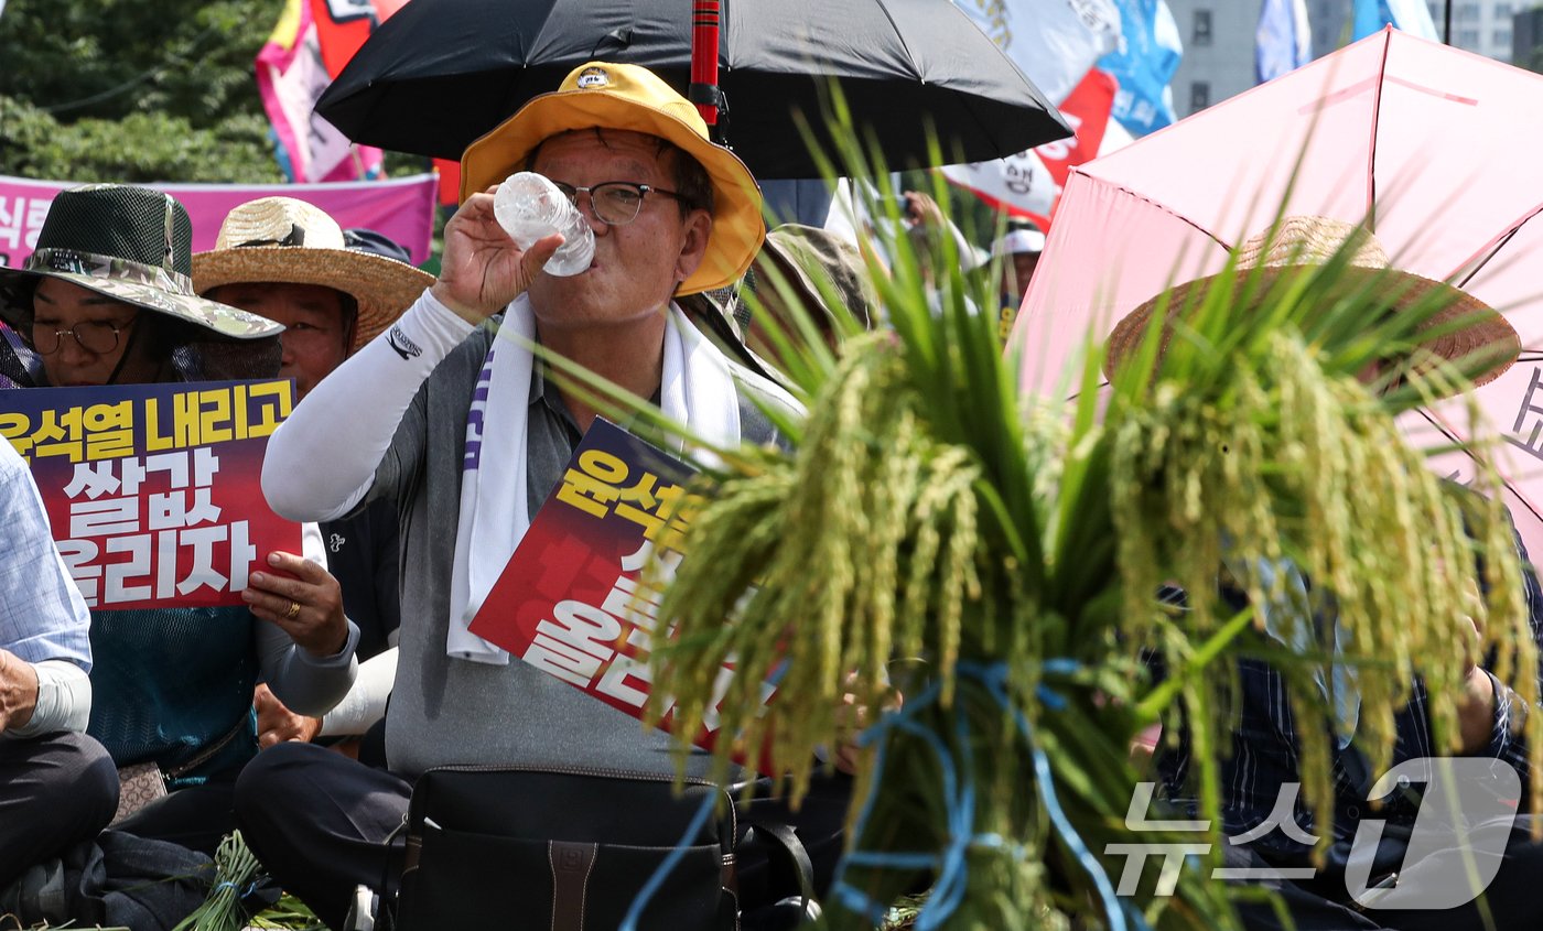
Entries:
{"label": "green tree foliage in the top left corner", "polygon": [[0,173],[59,180],[282,180],[253,59],[282,0],[11,0]]}

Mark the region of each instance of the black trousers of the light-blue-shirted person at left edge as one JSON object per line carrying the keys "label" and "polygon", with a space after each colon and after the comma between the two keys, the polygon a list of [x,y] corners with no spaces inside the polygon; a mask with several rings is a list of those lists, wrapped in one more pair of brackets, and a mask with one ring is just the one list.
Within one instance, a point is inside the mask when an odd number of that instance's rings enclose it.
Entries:
{"label": "black trousers of the light-blue-shirted person at left edge", "polygon": [[117,809],[117,768],[85,734],[0,735],[0,889],[96,837]]}

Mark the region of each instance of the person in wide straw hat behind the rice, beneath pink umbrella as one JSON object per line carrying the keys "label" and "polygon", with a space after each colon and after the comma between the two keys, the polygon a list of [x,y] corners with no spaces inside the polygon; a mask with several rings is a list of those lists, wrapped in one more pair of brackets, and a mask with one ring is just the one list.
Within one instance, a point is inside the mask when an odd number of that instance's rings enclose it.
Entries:
{"label": "person in wide straw hat behind the rice, beneath pink umbrella", "polygon": [[[1244,244],[1239,253],[1245,256],[1264,256],[1262,264],[1265,265],[1271,264],[1268,262],[1271,254],[1290,254],[1293,256],[1293,262],[1301,264],[1324,262],[1347,237],[1358,236],[1362,237],[1362,245],[1361,251],[1356,253],[1355,264],[1378,268],[1387,268],[1389,265],[1387,256],[1383,254],[1375,239],[1364,233],[1364,230],[1347,224],[1324,220],[1321,217],[1287,217],[1276,236],[1278,239],[1273,242],[1267,242],[1264,236],[1254,237]],[[1248,271],[1248,262],[1241,260],[1237,274],[1244,276]],[[1401,273],[1393,274],[1396,279],[1396,274]],[[1222,281],[1224,285],[1228,284],[1225,276],[1217,276],[1217,281]],[[1416,291],[1404,288],[1404,293],[1415,294]],[[1437,336],[1423,345],[1423,348],[1450,361],[1472,361],[1470,353],[1491,348],[1492,351],[1486,355],[1486,359],[1494,356],[1495,361],[1475,381],[1483,384],[1497,378],[1515,361],[1517,350],[1520,348],[1515,330],[1498,313],[1474,297],[1461,294],[1455,288],[1450,296],[1455,305],[1443,311],[1449,314],[1444,321],[1461,319],[1466,322],[1466,328]],[[1176,301],[1179,299],[1176,297]],[[1154,313],[1156,302],[1157,299],[1154,297],[1136,308],[1116,328],[1109,341],[1108,370],[1113,371],[1139,345],[1145,336],[1146,319]],[[1398,311],[1400,308],[1393,307],[1392,310]],[[1386,385],[1389,382],[1389,378],[1384,378],[1387,375],[1386,367],[1406,364],[1407,359],[1384,359],[1362,371],[1361,379],[1367,385]],[[1523,563],[1523,595],[1529,612],[1532,637],[1543,647],[1543,589],[1538,587],[1537,575],[1528,564],[1521,538],[1515,533],[1514,538],[1517,555]],[[1262,615],[1267,635],[1278,640],[1278,646],[1301,652],[1307,644],[1287,641],[1284,634],[1278,632],[1278,624],[1271,621],[1273,610],[1284,610],[1288,606],[1290,610],[1305,615],[1316,609],[1319,624],[1325,629],[1333,629],[1336,621],[1332,617],[1332,609],[1319,604],[1321,600],[1315,601],[1310,595],[1312,580],[1304,578],[1290,564],[1279,566],[1276,572],[1285,573],[1285,601],[1279,607],[1262,607],[1259,613]],[[1236,609],[1242,609],[1247,603],[1236,590],[1224,590],[1224,597]],[[1279,629],[1284,630],[1284,627]],[[1335,640],[1338,640],[1338,632],[1335,632]],[[1537,672],[1534,671],[1534,675]],[[1251,880],[1261,882],[1281,894],[1298,928],[1400,928],[1404,931],[1430,928],[1432,931],[1455,931],[1486,926],[1480,908],[1474,903],[1432,911],[1378,911],[1362,908],[1350,900],[1344,852],[1355,840],[1362,818],[1386,820],[1386,835],[1392,840],[1400,829],[1407,829],[1415,823],[1415,818],[1420,815],[1420,805],[1406,795],[1396,795],[1383,809],[1373,811],[1369,805],[1369,792],[1375,778],[1381,774],[1367,771],[1366,754],[1353,737],[1353,721],[1358,715],[1359,698],[1355,694],[1353,677],[1347,664],[1327,663],[1318,674],[1319,687],[1324,689],[1325,695],[1335,697],[1336,717],[1339,718],[1338,726],[1329,720],[1304,718],[1293,711],[1290,701],[1282,701],[1282,697],[1287,695],[1284,677],[1285,674],[1281,669],[1262,660],[1239,661],[1239,694],[1236,695],[1236,724],[1231,735],[1231,752],[1219,760],[1219,769],[1222,788],[1221,814],[1224,822],[1221,829],[1227,837],[1242,840],[1236,845],[1224,846],[1225,865],[1237,869],[1312,866],[1318,871],[1318,876],[1313,879],[1271,877]],[[1430,700],[1424,683],[1416,678],[1409,704],[1396,718],[1395,765],[1410,758],[1447,755],[1432,734]],[[1514,715],[1524,715],[1526,707],[1517,700],[1515,694],[1504,687],[1484,664],[1474,664],[1463,684],[1463,694],[1457,695],[1455,700],[1458,707],[1458,737],[1461,741],[1460,755],[1500,760],[1520,774],[1521,785],[1524,786],[1529,772],[1528,751],[1521,735],[1512,729],[1512,720]],[[1349,732],[1342,732],[1347,723]],[[1302,777],[1299,732],[1302,728],[1312,726],[1325,728],[1333,732],[1335,800],[1332,840],[1339,852],[1335,854],[1335,848],[1332,848],[1330,863],[1333,866],[1330,869],[1321,869],[1321,865],[1310,859],[1315,823],[1312,814],[1301,805],[1301,800],[1293,806],[1285,828],[1275,826],[1271,829],[1271,825],[1278,823],[1271,818],[1278,802],[1282,797],[1288,800],[1296,797],[1296,788]],[[1163,752],[1159,749],[1156,763],[1168,798],[1191,815],[1197,814],[1199,803],[1193,786],[1188,785],[1193,760],[1183,735],[1180,735],[1177,751]],[[1543,900],[1532,892],[1534,877],[1543,874],[1540,872],[1543,871],[1543,845],[1531,843],[1528,834],[1529,815],[1521,815],[1511,832],[1511,843],[1506,848],[1506,865],[1501,866],[1500,874],[1484,892],[1487,908],[1495,916],[1495,926],[1500,928],[1534,926],[1543,920]],[[1458,851],[1450,852],[1458,854]],[[1416,872],[1421,869],[1421,863],[1415,862],[1415,855],[1410,854],[1406,860],[1403,854],[1403,849],[1389,846],[1387,852],[1379,857],[1373,868],[1372,879],[1381,879],[1376,872],[1381,872],[1384,868],[1401,869],[1406,879],[1421,876]],[[1432,866],[1440,869],[1443,863],[1446,860],[1438,854],[1430,859],[1430,863],[1426,863],[1426,869]],[[1460,869],[1460,860],[1454,859],[1444,868],[1447,871]],[[1278,916],[1268,905],[1244,905],[1239,908],[1239,914],[1244,926],[1250,929],[1273,931],[1282,928]]]}

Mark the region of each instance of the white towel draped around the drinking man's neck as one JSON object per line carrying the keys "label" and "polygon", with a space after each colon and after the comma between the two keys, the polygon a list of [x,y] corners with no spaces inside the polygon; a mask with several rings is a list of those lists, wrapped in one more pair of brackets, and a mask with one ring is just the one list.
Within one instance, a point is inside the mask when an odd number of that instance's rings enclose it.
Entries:
{"label": "white towel draped around the drinking man's neck", "polygon": [[[461,510],[451,572],[451,624],[446,654],[457,660],[503,666],[509,654],[468,627],[514,547],[531,527],[526,504],[526,416],[531,404],[529,350],[535,336],[531,302],[520,296],[477,376],[466,418],[461,464]],[[724,353],[707,341],[674,304],[665,324],[659,407],[713,445],[739,442],[739,393]],[[679,441],[674,441],[679,452]]]}

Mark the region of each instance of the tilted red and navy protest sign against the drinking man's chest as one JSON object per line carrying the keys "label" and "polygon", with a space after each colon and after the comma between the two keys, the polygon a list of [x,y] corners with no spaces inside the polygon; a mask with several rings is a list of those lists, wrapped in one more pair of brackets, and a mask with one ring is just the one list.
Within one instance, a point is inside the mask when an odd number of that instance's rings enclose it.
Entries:
{"label": "tilted red and navy protest sign against the drinking man's chest", "polygon": [[[648,652],[656,638],[670,637],[657,613],[660,593],[650,584],[663,580],[645,566],[656,550],[667,575],[679,566],[679,523],[670,518],[690,513],[682,487],[690,476],[685,462],[596,418],[471,632],[640,718],[653,687]],[[694,744],[711,749],[716,741],[716,703],[733,675],[731,666],[719,672],[714,711],[691,735]],[[762,704],[773,692],[762,686]],[[677,732],[673,715],[662,728]]]}

